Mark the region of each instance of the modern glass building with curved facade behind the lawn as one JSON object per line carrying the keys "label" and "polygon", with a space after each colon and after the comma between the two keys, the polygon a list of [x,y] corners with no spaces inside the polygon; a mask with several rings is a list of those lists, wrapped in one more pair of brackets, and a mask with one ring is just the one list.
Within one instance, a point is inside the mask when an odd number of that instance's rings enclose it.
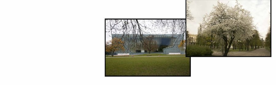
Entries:
{"label": "modern glass building with curved facade behind the lawn", "polygon": [[[149,50],[143,47],[143,39],[151,37],[157,44],[157,49],[151,50],[154,54],[185,54],[183,48],[178,48],[181,40],[183,40],[182,34],[151,34],[143,36],[135,36],[130,34],[112,34],[112,37],[122,38],[124,41],[125,51],[116,51],[114,55],[138,55],[148,54]],[[143,39],[142,39],[143,38]]]}

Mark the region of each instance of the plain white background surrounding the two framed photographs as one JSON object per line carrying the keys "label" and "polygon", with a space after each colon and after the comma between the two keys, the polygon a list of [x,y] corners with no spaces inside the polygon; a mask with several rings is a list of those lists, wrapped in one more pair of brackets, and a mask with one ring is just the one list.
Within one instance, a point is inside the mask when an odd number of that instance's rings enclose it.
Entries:
{"label": "plain white background surrounding the two framed photographs", "polygon": [[274,52],[192,57],[191,77],[104,77],[105,18],[185,18],[185,0],[2,0],[0,85],[276,84]]}

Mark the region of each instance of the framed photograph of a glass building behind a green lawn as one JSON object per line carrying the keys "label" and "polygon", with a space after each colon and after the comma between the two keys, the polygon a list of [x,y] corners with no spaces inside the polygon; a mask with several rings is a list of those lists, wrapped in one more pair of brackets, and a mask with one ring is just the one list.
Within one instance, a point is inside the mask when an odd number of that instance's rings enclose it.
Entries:
{"label": "framed photograph of a glass building behind a green lawn", "polygon": [[190,76],[186,19],[105,19],[105,76]]}

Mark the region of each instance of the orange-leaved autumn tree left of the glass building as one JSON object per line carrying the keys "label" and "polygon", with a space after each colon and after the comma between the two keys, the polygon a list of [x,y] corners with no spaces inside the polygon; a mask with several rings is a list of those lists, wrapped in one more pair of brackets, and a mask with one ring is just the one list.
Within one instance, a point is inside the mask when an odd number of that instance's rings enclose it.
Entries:
{"label": "orange-leaved autumn tree left of the glass building", "polygon": [[119,38],[115,37],[112,40],[109,40],[108,42],[105,43],[105,51],[111,52],[112,57],[115,51],[124,51],[124,50],[125,50],[124,42]]}

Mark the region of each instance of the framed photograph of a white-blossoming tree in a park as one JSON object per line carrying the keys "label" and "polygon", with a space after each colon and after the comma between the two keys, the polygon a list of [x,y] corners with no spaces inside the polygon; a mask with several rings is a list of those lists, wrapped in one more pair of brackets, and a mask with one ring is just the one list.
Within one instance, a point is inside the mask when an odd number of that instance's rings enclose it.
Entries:
{"label": "framed photograph of a white-blossoming tree in a park", "polygon": [[270,0],[187,0],[186,57],[271,57]]}

